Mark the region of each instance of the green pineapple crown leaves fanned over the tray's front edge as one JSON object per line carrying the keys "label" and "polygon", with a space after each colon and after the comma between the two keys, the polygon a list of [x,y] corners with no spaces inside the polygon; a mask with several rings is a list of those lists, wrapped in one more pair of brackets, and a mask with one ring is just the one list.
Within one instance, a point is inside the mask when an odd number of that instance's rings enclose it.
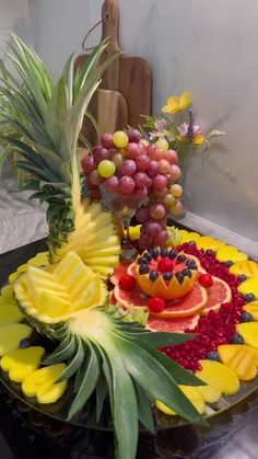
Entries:
{"label": "green pineapple crown leaves fanned over the tray's front edge", "polygon": [[99,319],[95,331],[85,322],[82,335],[75,332],[72,322],[63,324],[55,332],[59,346],[44,362],[51,365],[68,360],[57,382],[75,376],[68,418],[78,415],[95,391],[98,420],[108,394],[119,459],[136,456],[138,420],[154,432],[155,400],[191,423],[206,424],[177,386],[203,386],[203,381],[156,348],[183,343],[195,335],[153,333],[138,322],[121,320],[113,310],[97,308],[93,313]]}

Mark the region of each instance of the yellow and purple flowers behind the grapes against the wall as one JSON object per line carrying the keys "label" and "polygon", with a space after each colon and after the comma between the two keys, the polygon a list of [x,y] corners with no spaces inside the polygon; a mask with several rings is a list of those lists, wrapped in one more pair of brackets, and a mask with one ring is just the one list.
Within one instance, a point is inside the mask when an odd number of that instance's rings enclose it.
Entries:
{"label": "yellow and purple flowers behind the grapes against the wall", "polygon": [[161,148],[176,150],[180,167],[186,167],[192,152],[197,149],[204,154],[211,141],[223,136],[221,130],[212,130],[204,136],[201,127],[195,122],[192,97],[189,91],[181,95],[172,95],[161,110],[161,116],[144,116],[143,130],[146,138],[157,142]]}

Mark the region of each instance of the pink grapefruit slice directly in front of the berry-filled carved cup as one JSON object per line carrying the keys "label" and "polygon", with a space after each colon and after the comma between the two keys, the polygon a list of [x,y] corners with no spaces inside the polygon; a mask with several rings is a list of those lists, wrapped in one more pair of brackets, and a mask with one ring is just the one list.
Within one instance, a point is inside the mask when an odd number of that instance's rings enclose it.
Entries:
{"label": "pink grapefruit slice directly in front of the berry-filled carved cup", "polygon": [[192,315],[199,312],[204,308],[208,300],[207,291],[204,287],[201,287],[200,284],[196,283],[185,297],[178,300],[171,300],[166,302],[166,308],[162,312],[152,312],[152,315],[159,318],[179,318]]}

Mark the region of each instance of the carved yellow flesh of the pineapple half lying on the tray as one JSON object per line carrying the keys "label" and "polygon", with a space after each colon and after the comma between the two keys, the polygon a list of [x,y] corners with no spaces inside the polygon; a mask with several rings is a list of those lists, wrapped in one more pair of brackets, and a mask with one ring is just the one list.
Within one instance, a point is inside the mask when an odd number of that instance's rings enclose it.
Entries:
{"label": "carved yellow flesh of the pineapple half lying on the tray", "polygon": [[58,323],[81,309],[103,306],[108,296],[99,275],[74,252],[67,252],[51,273],[28,266],[14,283],[14,291],[24,310],[46,323]]}

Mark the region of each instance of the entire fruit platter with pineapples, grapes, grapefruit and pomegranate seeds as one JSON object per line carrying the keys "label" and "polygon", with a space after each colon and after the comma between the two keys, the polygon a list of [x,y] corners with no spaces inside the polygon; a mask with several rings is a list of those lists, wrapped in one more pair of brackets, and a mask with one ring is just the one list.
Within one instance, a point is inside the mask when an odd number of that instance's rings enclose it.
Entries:
{"label": "entire fruit platter with pineapples, grapes, grapefruit and pomegranate seeds", "polygon": [[79,158],[106,42],[56,83],[13,43],[21,81],[4,68],[1,139],[49,236],[1,289],[1,380],[50,416],[113,429],[116,457],[133,459],[140,429],[207,426],[256,390],[258,264],[167,225],[184,190],[165,139],[128,127]]}

